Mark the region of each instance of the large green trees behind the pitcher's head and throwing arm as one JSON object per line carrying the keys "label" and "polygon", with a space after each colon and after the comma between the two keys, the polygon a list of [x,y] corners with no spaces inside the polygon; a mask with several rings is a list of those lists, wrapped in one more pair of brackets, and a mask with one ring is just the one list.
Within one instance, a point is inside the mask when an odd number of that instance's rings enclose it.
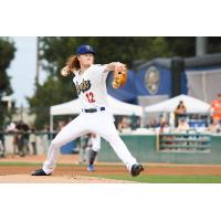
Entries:
{"label": "large green trees behind the pitcher's head and throwing arm", "polygon": [[[171,43],[164,36],[56,36],[40,38],[41,65],[50,74],[43,85],[36,85],[35,94],[29,97],[36,124],[42,127],[49,122],[49,107],[76,97],[72,76],[62,77],[60,70],[66,59],[75,54],[80,44],[91,44],[96,51],[96,63],[113,61],[126,63],[130,69],[136,60],[148,61],[160,56],[172,56]],[[44,110],[40,110],[44,109]]]}

